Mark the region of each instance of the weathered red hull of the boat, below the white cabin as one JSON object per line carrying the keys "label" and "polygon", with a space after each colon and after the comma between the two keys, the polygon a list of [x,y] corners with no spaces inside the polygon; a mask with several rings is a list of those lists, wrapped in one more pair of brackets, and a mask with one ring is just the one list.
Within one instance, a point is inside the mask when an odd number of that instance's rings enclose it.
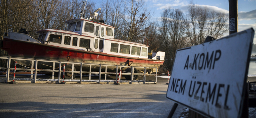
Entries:
{"label": "weathered red hull of the boat, below the white cabin", "polygon": [[[33,43],[28,41],[19,41],[4,38],[1,48],[13,57],[24,57],[32,59],[46,59],[55,61],[67,61],[70,56],[70,62],[83,62],[108,65],[128,65],[139,67],[159,67],[164,60],[141,59],[119,55],[109,55],[102,52],[84,51],[71,48],[62,48],[47,44]],[[129,63],[130,62],[130,63]],[[28,63],[23,63],[28,65]],[[44,67],[47,68],[47,67]],[[49,67],[48,67],[49,68]],[[113,67],[111,70],[115,70]],[[80,67],[76,67],[80,70]],[[144,69],[137,69],[144,70]]]}

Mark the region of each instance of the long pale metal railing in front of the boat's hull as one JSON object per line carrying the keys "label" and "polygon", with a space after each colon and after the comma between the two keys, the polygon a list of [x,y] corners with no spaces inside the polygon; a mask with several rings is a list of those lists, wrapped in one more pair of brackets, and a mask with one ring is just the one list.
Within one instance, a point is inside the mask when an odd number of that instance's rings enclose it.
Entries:
{"label": "long pale metal railing in front of the boat's hull", "polygon": [[[6,70],[6,82],[9,82],[9,78],[10,78],[10,70],[14,70],[14,68],[11,68],[11,60],[15,60],[15,61],[30,61],[31,62],[31,66],[24,66],[26,68],[22,69],[22,68],[16,68],[16,70],[24,70],[24,71],[30,71],[30,78],[33,78],[34,83],[36,83],[36,78],[37,78],[37,72],[38,71],[45,71],[45,72],[52,72],[52,79],[54,79],[54,75],[56,72],[58,72],[58,82],[60,83],[61,80],[61,72],[63,72],[63,69],[61,69],[61,65],[63,64],[72,64],[72,71],[68,71],[65,70],[65,73],[67,72],[72,72],[72,76],[71,79],[74,78],[74,73],[80,73],[80,84],[82,83],[82,74],[83,73],[87,73],[89,74],[89,80],[91,80],[91,74],[99,74],[99,84],[100,84],[100,80],[101,80],[101,76],[102,74],[105,74],[105,80],[107,79],[107,75],[116,75],[116,80],[115,83],[117,83],[117,75],[119,75],[118,70],[122,69],[122,68],[128,68],[131,67],[132,70],[134,70],[134,68],[144,68],[144,73],[133,73],[133,71],[131,71],[131,73],[122,73],[122,75],[131,75],[131,81],[130,84],[132,84],[133,77],[134,75],[142,75],[144,76],[144,81],[143,84],[146,84],[146,69],[157,69],[157,68],[149,68],[149,67],[137,67],[137,66],[123,66],[123,65],[107,65],[107,64],[93,64],[93,63],[77,63],[77,62],[67,62],[67,61],[52,61],[52,60],[42,60],[42,59],[29,59],[29,58],[18,58],[18,57],[7,57],[7,56],[0,56],[0,59],[7,59],[7,67],[1,67],[0,69],[4,69]],[[52,69],[38,69],[38,63],[42,63],[42,62],[47,62],[47,63],[52,63]],[[59,63],[59,67],[55,67],[56,63]],[[80,65],[80,71],[74,71],[74,65],[75,64],[79,64]],[[21,64],[20,64],[21,65]],[[90,66],[90,70],[89,71],[83,71],[83,65],[88,65]],[[92,70],[92,66],[99,66],[99,71],[91,71]],[[107,69],[109,67],[115,67],[116,68],[116,72],[107,72]],[[104,69],[105,67],[105,72],[102,72],[101,70]],[[57,70],[56,70],[57,69]],[[142,70],[142,69],[140,69]],[[33,74],[34,73],[34,74]],[[66,78],[65,78],[66,80]],[[156,82],[157,82],[157,72],[156,72]]]}

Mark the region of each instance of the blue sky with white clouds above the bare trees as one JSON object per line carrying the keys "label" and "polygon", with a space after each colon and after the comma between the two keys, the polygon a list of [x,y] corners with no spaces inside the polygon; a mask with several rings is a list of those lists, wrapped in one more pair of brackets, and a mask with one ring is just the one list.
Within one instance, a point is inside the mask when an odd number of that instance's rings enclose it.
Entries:
{"label": "blue sky with white clouds above the bare trees", "polygon": [[[100,3],[101,0],[93,0]],[[103,0],[104,1],[104,0]],[[159,19],[161,11],[164,8],[178,8],[183,12],[187,12],[188,4],[192,1],[199,6],[206,6],[209,9],[229,13],[228,0],[144,0],[147,10],[154,12],[152,18]],[[256,31],[256,0],[238,0],[238,32],[253,28]],[[227,33],[226,35],[229,35]],[[254,35],[254,44],[256,44],[256,32]]]}

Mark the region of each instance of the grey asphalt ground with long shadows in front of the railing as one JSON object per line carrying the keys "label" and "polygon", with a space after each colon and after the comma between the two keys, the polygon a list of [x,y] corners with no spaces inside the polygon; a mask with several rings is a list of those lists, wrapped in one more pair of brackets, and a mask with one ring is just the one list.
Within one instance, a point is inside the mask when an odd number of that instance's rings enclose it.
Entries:
{"label": "grey asphalt ground with long shadows in front of the railing", "polygon": [[[174,104],[165,97],[166,83],[160,77],[157,84],[0,83],[0,117],[164,118]],[[180,118],[184,109],[178,105],[173,118]]]}

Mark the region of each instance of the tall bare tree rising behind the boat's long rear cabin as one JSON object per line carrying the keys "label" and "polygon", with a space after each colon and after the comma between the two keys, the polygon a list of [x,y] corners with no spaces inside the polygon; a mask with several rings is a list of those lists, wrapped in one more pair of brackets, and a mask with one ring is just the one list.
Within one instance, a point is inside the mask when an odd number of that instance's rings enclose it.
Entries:
{"label": "tall bare tree rising behind the boat's long rear cabin", "polygon": [[124,24],[117,30],[126,41],[140,41],[143,37],[143,30],[152,15],[147,11],[143,0],[125,0],[124,2],[125,16]]}

